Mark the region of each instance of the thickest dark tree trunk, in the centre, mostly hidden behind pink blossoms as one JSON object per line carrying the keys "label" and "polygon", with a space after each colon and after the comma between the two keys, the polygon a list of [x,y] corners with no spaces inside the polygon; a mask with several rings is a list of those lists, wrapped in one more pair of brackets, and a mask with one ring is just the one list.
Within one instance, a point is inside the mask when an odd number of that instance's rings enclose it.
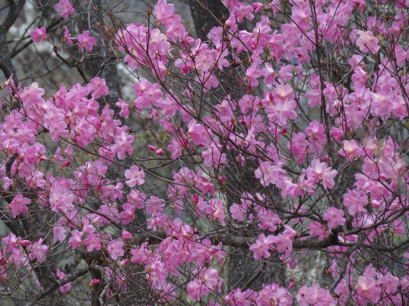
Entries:
{"label": "thickest dark tree trunk, in the centre, mostly hidden behind pink blossoms", "polygon": [[[219,27],[229,18],[229,9],[221,0],[190,0],[189,1],[193,22],[196,28],[196,35],[202,40],[207,40],[207,34],[213,27]],[[233,61],[233,57],[229,56]],[[222,75],[225,88],[219,88],[219,92],[227,92],[232,99],[238,100],[245,94],[246,87],[238,81],[239,76],[235,73],[236,68],[230,66],[225,69]],[[217,96],[217,95],[214,95]],[[214,101],[212,101],[214,103]],[[220,103],[221,101],[219,101]],[[247,160],[244,166],[238,165],[234,154],[228,154],[229,167],[226,169],[226,191],[225,196],[228,206],[234,202],[240,201],[240,196],[244,192],[254,194],[258,190],[260,182],[254,177],[254,169],[257,168],[254,160]],[[227,183],[228,182],[228,183]],[[263,190],[265,192],[265,190]],[[281,198],[276,188],[268,190],[270,202],[280,205]],[[235,232],[236,235],[240,235]],[[251,233],[258,236],[257,230]],[[243,233],[245,235],[245,233]],[[272,252],[270,259],[262,262],[253,259],[253,254],[249,252],[248,247],[230,247],[229,248],[229,289],[240,287],[242,289],[250,288],[253,290],[261,289],[263,284],[283,283],[285,268],[283,262],[278,258],[278,253]]]}

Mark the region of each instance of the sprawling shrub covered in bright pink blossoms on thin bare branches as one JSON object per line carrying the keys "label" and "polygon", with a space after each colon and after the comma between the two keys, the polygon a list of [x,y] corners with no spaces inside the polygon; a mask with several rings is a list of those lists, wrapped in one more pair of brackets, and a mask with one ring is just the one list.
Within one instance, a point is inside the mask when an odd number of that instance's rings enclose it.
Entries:
{"label": "sprawling shrub covered in bright pink blossoms on thin bare branches", "polygon": [[[47,94],[5,83],[3,286],[35,275],[35,303],[89,273],[101,304],[408,303],[409,4],[224,5],[197,39],[165,0],[146,24],[106,27],[110,51],[146,72],[134,101],[109,104],[100,77]],[[97,45],[89,31],[76,40]],[[148,157],[128,116],[154,136]],[[225,272],[236,248],[259,267],[243,286]],[[294,280],[317,250],[326,275]],[[254,286],[272,261],[281,281]]]}

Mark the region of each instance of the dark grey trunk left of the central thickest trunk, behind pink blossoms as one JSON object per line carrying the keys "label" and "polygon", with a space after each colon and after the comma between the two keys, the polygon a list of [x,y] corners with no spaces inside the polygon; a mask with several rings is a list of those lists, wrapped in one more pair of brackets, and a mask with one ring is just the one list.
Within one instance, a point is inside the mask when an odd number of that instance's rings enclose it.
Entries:
{"label": "dark grey trunk left of the central thickest trunk, behind pink blossoms", "polygon": [[[79,32],[86,30],[90,31],[90,35],[95,36],[97,39],[97,45],[94,46],[92,54],[86,60],[83,74],[86,78],[91,79],[94,77],[100,77],[106,81],[106,86],[109,88],[109,95],[105,99],[100,98],[100,110],[102,110],[106,104],[109,105],[111,110],[115,112],[115,119],[121,120],[121,125],[125,125],[125,119],[120,117],[118,114],[120,109],[115,105],[119,98],[122,98],[121,94],[121,85],[119,81],[118,70],[115,64],[112,64],[116,61],[116,58],[112,57],[104,46],[102,42],[105,39],[104,34],[101,32],[101,28],[104,28],[101,20],[101,15],[103,14],[101,8],[101,0],[94,0],[93,7],[89,7],[88,0],[80,0],[75,3],[76,10],[82,12],[77,17],[77,27]],[[92,34],[96,33],[96,34]],[[109,40],[110,38],[106,38]],[[105,44],[106,45],[106,44]],[[133,165],[133,161],[127,156],[124,160],[119,160],[117,157],[114,160],[114,163],[108,166],[108,171],[106,179],[110,181],[124,180],[124,172]],[[117,199],[117,204],[119,210],[124,202],[127,201],[126,195],[131,191],[131,188],[127,185],[124,185],[122,192],[124,196],[122,199]],[[136,210],[135,218],[128,225],[125,225],[124,228],[132,234],[133,241],[135,244],[140,244],[146,239],[146,215],[144,210]],[[145,275],[141,273],[143,271],[135,271],[132,268],[132,265],[126,266],[126,280],[127,280],[127,292],[122,291],[120,296],[120,302],[122,305],[133,305],[133,304],[146,304],[146,282],[143,278]],[[139,272],[139,273],[138,273]],[[92,272],[93,273],[93,272]],[[101,273],[94,273],[94,278],[101,279],[99,285],[95,285],[93,288],[93,306],[100,305],[99,296],[104,290],[106,284],[103,282],[104,276]],[[135,277],[136,275],[136,277]],[[138,277],[140,275],[141,277]]]}

